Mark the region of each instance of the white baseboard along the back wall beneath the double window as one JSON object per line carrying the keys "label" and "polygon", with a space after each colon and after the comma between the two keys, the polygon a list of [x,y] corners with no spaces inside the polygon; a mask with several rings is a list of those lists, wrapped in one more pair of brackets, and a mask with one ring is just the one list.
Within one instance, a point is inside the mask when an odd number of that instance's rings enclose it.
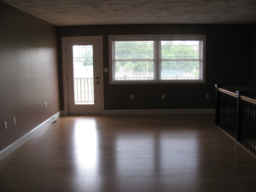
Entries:
{"label": "white baseboard along the back wall beneath the double window", "polygon": [[200,114],[215,113],[215,109],[134,109],[104,110],[102,114]]}

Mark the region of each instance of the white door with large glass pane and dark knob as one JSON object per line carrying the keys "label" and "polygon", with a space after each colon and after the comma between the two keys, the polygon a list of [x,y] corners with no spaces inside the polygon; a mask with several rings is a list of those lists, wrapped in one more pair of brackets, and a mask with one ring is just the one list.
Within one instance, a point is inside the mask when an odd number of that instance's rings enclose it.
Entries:
{"label": "white door with large glass pane and dark knob", "polygon": [[100,114],[98,40],[67,41],[69,114]]}

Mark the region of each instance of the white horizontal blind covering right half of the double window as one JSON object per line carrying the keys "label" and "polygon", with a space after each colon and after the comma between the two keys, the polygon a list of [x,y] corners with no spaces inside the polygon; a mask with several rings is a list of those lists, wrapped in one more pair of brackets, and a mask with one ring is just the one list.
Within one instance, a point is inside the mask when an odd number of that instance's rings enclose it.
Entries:
{"label": "white horizontal blind covering right half of the double window", "polygon": [[200,44],[201,41],[161,41],[161,80],[200,80]]}

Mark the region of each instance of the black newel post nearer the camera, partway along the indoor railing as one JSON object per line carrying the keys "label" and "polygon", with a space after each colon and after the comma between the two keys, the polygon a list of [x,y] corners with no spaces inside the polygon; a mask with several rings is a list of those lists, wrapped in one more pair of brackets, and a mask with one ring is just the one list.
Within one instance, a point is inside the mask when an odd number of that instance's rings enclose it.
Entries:
{"label": "black newel post nearer the camera, partway along the indoor railing", "polygon": [[236,91],[237,103],[236,103],[236,133],[235,138],[237,141],[241,141],[242,126],[243,126],[243,101],[240,99],[242,91]]}

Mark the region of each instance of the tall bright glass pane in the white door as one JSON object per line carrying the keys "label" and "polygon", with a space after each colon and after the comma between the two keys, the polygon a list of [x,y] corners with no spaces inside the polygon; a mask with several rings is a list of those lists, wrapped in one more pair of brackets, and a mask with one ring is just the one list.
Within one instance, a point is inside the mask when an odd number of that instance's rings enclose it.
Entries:
{"label": "tall bright glass pane in the white door", "polygon": [[93,46],[73,46],[74,104],[93,105]]}

